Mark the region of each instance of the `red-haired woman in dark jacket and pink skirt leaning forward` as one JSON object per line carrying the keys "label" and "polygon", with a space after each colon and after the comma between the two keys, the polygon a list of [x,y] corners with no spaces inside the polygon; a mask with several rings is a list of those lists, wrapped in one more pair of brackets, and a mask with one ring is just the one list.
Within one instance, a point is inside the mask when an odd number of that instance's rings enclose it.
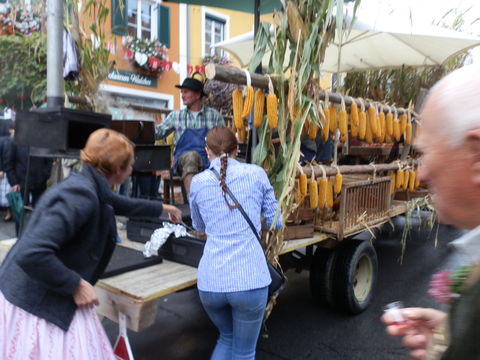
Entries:
{"label": "red-haired woman in dark jacket and pink skirt leaning forward", "polygon": [[115,194],[130,176],[133,144],[100,129],[84,162],[38,201],[0,267],[0,359],[115,359],[94,310],[94,285],[112,256],[115,214],[181,218],[170,205]]}

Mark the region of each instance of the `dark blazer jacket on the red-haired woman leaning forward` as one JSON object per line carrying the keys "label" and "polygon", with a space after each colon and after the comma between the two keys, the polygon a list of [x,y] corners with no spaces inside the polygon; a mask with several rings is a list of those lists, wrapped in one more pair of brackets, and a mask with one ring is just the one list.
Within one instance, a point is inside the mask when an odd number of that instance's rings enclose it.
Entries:
{"label": "dark blazer jacket on the red-haired woman leaning forward", "polygon": [[114,214],[159,216],[160,202],[131,199],[111,191],[93,167],[48,190],[0,267],[0,290],[12,304],[65,331],[76,305],[80,278],[95,284],[116,239]]}

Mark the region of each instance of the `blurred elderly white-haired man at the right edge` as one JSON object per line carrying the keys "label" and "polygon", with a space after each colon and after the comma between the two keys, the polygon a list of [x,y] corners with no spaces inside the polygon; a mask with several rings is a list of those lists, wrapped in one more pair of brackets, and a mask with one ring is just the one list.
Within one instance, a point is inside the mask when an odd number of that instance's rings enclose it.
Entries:
{"label": "blurred elderly white-haired man at the right edge", "polygon": [[[447,75],[430,91],[421,113],[415,146],[422,154],[420,180],[432,193],[440,222],[471,230],[453,244],[470,266],[447,313],[406,308],[398,319],[387,312],[387,333],[403,337],[416,359],[480,359],[480,67]],[[457,294],[460,289],[461,294]],[[400,321],[399,321],[400,320]]]}

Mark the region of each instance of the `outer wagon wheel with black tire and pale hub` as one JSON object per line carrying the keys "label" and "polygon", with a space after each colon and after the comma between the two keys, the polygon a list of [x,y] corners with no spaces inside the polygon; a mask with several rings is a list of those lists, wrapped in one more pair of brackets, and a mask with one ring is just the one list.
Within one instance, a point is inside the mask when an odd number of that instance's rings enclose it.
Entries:
{"label": "outer wagon wheel with black tire and pale hub", "polygon": [[364,311],[373,299],[378,260],[368,240],[344,240],[337,248],[333,294],[337,305],[352,313]]}

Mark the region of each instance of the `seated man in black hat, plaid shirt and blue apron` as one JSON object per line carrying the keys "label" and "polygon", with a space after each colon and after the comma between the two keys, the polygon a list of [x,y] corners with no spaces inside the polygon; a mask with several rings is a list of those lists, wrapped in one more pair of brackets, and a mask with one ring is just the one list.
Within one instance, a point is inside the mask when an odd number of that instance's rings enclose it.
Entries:
{"label": "seated man in black hat, plaid shirt and blue apron", "polygon": [[193,76],[186,78],[182,85],[175,85],[181,90],[186,108],[172,111],[164,122],[155,128],[157,140],[175,131],[173,168],[181,176],[187,195],[190,193],[193,175],[210,165],[205,151],[208,130],[215,126],[225,126],[218,111],[203,105],[203,96],[206,95],[203,83]]}

